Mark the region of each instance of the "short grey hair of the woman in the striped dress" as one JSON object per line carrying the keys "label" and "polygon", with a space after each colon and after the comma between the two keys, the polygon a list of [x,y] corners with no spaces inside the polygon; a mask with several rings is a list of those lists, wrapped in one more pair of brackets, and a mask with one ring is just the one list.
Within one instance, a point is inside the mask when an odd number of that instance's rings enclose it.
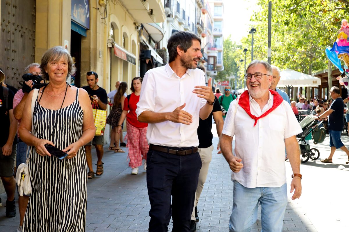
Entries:
{"label": "short grey hair of the woman in the striped dress", "polygon": [[76,71],[75,65],[73,63],[72,56],[70,56],[69,51],[62,46],[56,46],[45,51],[44,55],[41,57],[41,74],[45,80],[50,80],[49,74],[45,72],[45,68],[50,61],[59,61],[60,58],[65,57],[68,62],[68,75],[67,78],[73,75]]}

